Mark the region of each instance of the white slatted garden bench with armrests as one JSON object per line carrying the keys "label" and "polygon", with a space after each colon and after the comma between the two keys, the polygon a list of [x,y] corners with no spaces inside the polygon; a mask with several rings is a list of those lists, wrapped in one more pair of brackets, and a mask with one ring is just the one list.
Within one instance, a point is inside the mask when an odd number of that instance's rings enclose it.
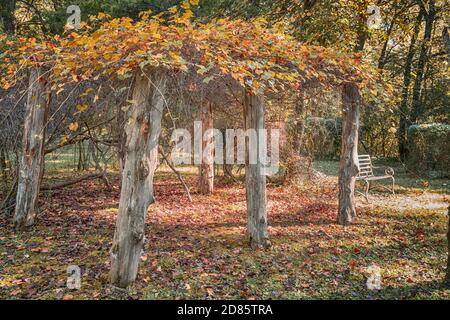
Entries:
{"label": "white slatted garden bench with armrests", "polygon": [[[358,155],[358,168],[359,173],[356,177],[356,180],[362,180],[366,183],[366,190],[363,196],[366,198],[367,201],[369,201],[369,190],[370,190],[370,182],[371,181],[377,181],[377,180],[385,180],[385,179],[391,179],[392,180],[392,190],[390,188],[387,188],[385,186],[382,186],[383,188],[388,189],[389,191],[392,191],[392,194],[395,194],[395,178],[394,178],[394,169],[391,167],[374,167],[372,165],[372,159],[370,158],[370,155],[364,154],[364,155]],[[375,175],[374,169],[382,169],[384,170],[384,175]]]}

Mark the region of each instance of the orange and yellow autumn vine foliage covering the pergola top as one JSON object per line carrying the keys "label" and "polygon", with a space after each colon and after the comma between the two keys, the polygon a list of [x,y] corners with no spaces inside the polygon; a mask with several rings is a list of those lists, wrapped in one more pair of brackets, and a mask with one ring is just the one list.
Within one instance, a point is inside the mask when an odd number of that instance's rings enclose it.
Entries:
{"label": "orange and yellow autumn vine foliage covering the pergola top", "polygon": [[234,80],[252,92],[298,89],[308,81],[367,87],[379,80],[358,55],[305,45],[281,23],[269,25],[263,18],[194,21],[191,9],[197,4],[185,1],[157,15],[142,12],[137,21],[100,13],[78,31],[67,28],[62,36],[39,40],[0,36],[0,85],[14,86],[35,66],[45,68],[58,94],[70,83],[123,79],[152,68],[184,72],[205,84]]}

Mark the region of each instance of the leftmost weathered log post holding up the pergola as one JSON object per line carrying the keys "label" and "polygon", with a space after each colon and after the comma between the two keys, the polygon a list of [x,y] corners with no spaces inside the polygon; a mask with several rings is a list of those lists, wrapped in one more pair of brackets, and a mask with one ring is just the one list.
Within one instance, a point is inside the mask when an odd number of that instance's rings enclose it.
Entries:
{"label": "leftmost weathered log post holding up the pergola", "polygon": [[26,104],[16,209],[13,217],[16,230],[33,225],[36,216],[39,186],[44,166],[48,101],[42,69],[32,69]]}

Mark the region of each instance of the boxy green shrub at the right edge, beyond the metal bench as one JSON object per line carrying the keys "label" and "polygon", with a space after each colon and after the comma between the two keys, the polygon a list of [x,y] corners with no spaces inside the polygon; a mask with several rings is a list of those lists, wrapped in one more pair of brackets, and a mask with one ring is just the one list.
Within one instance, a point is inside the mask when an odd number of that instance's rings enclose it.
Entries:
{"label": "boxy green shrub at the right edge, beyond the metal bench", "polygon": [[411,171],[448,177],[450,125],[431,123],[408,128],[407,166]]}

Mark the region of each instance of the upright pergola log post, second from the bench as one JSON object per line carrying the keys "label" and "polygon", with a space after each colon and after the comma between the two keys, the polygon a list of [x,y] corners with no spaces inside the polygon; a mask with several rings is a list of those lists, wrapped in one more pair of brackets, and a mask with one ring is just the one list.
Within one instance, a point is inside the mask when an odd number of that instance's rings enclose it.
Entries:
{"label": "upright pergola log post, second from the bench", "polygon": [[[247,233],[252,248],[270,246],[267,231],[266,176],[259,154],[265,150],[260,139],[264,129],[264,97],[246,92],[244,99],[244,122],[247,130],[256,132],[256,139],[246,137],[245,183],[247,196]],[[256,157],[251,157],[252,150]],[[253,159],[252,159],[253,158]]]}

